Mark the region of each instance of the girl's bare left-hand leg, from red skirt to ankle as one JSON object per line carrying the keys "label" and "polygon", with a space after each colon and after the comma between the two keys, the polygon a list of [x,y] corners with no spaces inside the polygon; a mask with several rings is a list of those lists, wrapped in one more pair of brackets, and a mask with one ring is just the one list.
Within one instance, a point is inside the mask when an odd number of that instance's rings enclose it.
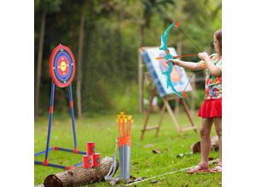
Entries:
{"label": "girl's bare left-hand leg, from red skirt to ankle", "polygon": [[208,163],[208,157],[211,151],[211,128],[212,118],[202,118],[200,135],[201,135],[201,164]]}

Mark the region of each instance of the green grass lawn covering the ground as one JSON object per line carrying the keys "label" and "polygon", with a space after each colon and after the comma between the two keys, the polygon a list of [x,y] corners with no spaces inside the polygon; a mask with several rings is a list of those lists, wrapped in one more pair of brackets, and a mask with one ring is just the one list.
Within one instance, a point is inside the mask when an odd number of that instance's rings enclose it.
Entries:
{"label": "green grass lawn covering the ground", "polygon": [[[196,112],[195,112],[196,113]],[[115,124],[115,114],[84,116],[81,120],[76,120],[76,132],[79,150],[85,151],[87,141],[96,142],[96,152],[101,156],[113,156],[115,138],[117,136],[117,127]],[[189,131],[178,135],[172,120],[167,114],[160,128],[158,137],[154,137],[155,131],[145,133],[143,141],[140,140],[141,129],[145,114],[134,114],[134,124],[132,127],[131,137],[131,176],[139,178],[150,178],[161,173],[167,173],[182,169],[185,167],[195,166],[200,161],[200,155],[185,156],[177,158],[177,154],[190,151],[190,145],[200,139],[199,133]],[[159,113],[150,116],[149,124],[155,125],[159,120]],[[194,116],[197,126],[200,125],[201,119]],[[181,113],[177,116],[180,124],[189,124],[188,118]],[[215,131],[212,127],[212,135]],[[35,153],[45,150],[48,117],[40,118],[35,122]],[[145,146],[151,144],[153,147]],[[50,147],[60,146],[73,149],[73,133],[71,118],[69,115],[54,116],[52,133],[50,137]],[[152,150],[160,150],[160,154],[154,154]],[[218,158],[218,152],[212,152],[211,157]],[[81,155],[73,155],[63,151],[49,153],[49,162],[63,165],[72,165],[81,161]],[[44,156],[37,156],[37,161],[44,161]],[[59,173],[63,170],[54,167],[43,167],[35,165],[34,167],[34,184],[43,184],[44,178],[49,174]],[[119,171],[117,172],[119,173]],[[117,174],[116,174],[117,175]],[[172,173],[157,180],[156,184],[150,184],[151,180],[137,184],[137,186],[219,186],[221,185],[221,173],[207,173],[189,175],[185,172]],[[108,182],[100,184],[91,184],[90,186],[108,186]]]}

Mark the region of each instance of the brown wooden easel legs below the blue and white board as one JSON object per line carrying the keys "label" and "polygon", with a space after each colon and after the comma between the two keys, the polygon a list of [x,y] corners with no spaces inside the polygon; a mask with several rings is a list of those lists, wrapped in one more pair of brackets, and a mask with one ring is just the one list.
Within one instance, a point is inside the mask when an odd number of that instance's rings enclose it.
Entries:
{"label": "brown wooden easel legs below the blue and white board", "polygon": [[160,126],[161,126],[161,123],[163,122],[163,118],[164,118],[166,110],[167,110],[168,115],[171,117],[172,122],[174,123],[175,127],[177,128],[177,133],[182,134],[184,131],[189,131],[189,130],[194,130],[195,133],[197,132],[197,127],[195,126],[195,123],[193,122],[193,119],[190,115],[189,107],[183,99],[179,99],[179,102],[183,105],[184,111],[186,112],[187,116],[189,117],[189,122],[190,122],[191,126],[188,126],[188,127],[180,127],[179,126],[179,124],[177,122],[177,119],[173,114],[172,108],[168,103],[169,100],[175,99],[175,97],[173,97],[171,95],[162,98],[163,102],[164,102],[164,105],[163,105],[163,107],[160,111],[160,118],[159,118],[158,124],[156,126],[148,127],[148,120],[149,120],[149,116],[150,116],[151,111],[152,111],[153,99],[154,99],[154,96],[156,95],[156,93],[157,93],[156,88],[154,88],[152,94],[150,95],[148,111],[147,111],[147,116],[146,116],[145,121],[144,121],[143,129],[142,129],[141,140],[144,137],[144,133],[148,130],[156,129],[155,136],[158,135],[158,133],[160,131]]}

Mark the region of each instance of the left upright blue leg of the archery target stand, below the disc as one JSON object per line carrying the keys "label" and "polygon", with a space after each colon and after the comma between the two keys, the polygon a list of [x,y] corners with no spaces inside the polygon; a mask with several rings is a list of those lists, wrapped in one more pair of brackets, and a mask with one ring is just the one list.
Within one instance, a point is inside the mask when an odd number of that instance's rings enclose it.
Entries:
{"label": "left upright blue leg of the archery target stand, below the disc", "polygon": [[54,97],[55,97],[55,82],[52,81],[51,92],[50,92],[50,105],[49,105],[49,127],[48,127],[44,164],[48,164],[49,137],[50,137],[50,130],[51,130],[51,121],[53,116]]}

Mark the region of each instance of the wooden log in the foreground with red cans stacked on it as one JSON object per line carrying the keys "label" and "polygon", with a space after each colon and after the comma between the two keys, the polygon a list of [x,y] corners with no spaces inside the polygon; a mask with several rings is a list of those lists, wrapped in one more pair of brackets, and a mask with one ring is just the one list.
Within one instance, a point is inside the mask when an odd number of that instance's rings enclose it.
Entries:
{"label": "wooden log in the foreground with red cans stacked on it", "polygon": [[[100,167],[92,167],[85,169],[83,167],[75,167],[61,173],[51,174],[44,179],[45,187],[71,187],[84,184],[93,184],[104,180],[111,167],[113,157],[105,157],[101,161]],[[117,161],[118,170],[119,162]]]}

